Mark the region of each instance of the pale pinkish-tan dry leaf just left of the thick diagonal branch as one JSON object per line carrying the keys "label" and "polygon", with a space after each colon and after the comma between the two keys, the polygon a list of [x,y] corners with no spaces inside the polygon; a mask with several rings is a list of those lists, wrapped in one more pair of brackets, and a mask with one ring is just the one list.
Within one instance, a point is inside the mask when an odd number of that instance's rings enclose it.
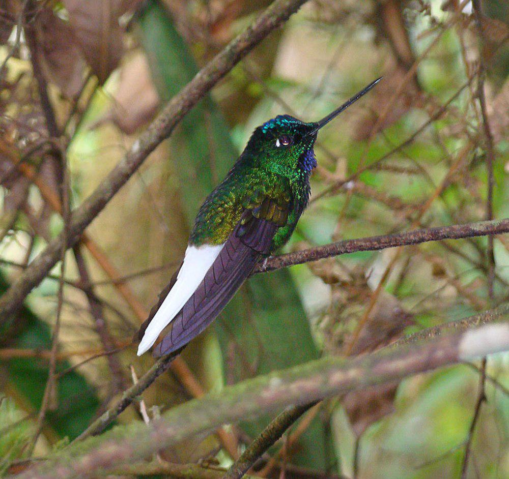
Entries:
{"label": "pale pinkish-tan dry leaf just left of the thick diagonal branch", "polygon": [[113,122],[124,133],[131,135],[155,115],[159,97],[144,53],[137,52],[122,66],[120,82],[112,98],[114,104],[94,127]]}

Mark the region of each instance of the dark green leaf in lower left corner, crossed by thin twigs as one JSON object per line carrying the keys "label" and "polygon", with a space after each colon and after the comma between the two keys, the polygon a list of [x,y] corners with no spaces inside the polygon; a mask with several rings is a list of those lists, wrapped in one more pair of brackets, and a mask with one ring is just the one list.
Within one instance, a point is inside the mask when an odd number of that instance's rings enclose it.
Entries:
{"label": "dark green leaf in lower left corner, crossed by thin twigs", "polygon": [[[8,283],[0,273],[0,291]],[[47,350],[51,348],[48,325],[29,308],[21,308],[16,318],[15,338],[12,347]],[[4,336],[6,330],[0,331]],[[5,362],[10,383],[17,394],[33,410],[39,410],[48,379],[48,363],[35,358],[16,358]],[[70,367],[67,361],[58,364],[57,371]],[[74,439],[92,422],[100,401],[94,387],[76,371],[71,371],[57,382],[58,407],[48,411],[46,422],[60,437]]]}

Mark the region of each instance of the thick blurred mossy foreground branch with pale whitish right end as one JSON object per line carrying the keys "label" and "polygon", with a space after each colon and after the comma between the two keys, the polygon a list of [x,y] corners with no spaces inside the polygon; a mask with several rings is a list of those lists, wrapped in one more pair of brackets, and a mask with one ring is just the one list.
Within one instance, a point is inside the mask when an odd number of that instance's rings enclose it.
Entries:
{"label": "thick blurred mossy foreground branch with pale whitish right end", "polygon": [[225,387],[220,394],[194,399],[167,411],[150,426],[131,423],[72,444],[17,479],[90,477],[99,469],[108,472],[126,461],[141,460],[224,423],[508,349],[509,323],[501,322],[361,357],[326,357]]}

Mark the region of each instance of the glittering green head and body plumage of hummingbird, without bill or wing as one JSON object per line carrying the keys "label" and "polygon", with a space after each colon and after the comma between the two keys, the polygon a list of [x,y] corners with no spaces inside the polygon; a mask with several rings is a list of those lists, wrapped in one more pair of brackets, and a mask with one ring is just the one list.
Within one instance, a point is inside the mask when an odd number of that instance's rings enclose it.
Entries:
{"label": "glittering green head and body plumage of hummingbird, without bill or wing", "polygon": [[200,208],[189,243],[224,243],[245,209],[259,208],[266,198],[277,211],[284,211],[278,218],[287,220],[281,224],[273,246],[286,243],[309,198],[309,173],[316,166],[316,134],[307,133],[313,127],[281,115],[254,130],[227,177]]}

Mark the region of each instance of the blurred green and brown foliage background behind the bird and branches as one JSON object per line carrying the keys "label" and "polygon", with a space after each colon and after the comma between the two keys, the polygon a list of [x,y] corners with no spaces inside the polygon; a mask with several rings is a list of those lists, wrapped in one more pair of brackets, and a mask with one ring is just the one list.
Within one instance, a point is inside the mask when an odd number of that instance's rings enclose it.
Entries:
{"label": "blurred green and brown foliage background behind the bird and branches", "polygon": [[[21,4],[32,10],[28,33],[18,36]],[[48,199],[59,198],[62,170],[45,142],[37,75],[62,132],[76,206],[159,108],[268,5],[2,5],[2,288],[63,228]],[[0,471],[76,437],[132,384],[131,368],[139,376],[153,364],[150,355],[135,356],[131,337],[180,263],[200,204],[253,128],[270,117],[315,121],[384,76],[320,133],[312,200],[286,251],[480,221],[487,218],[489,175],[477,100],[479,68],[485,69],[493,215],[509,216],[509,6],[489,0],[482,8],[477,18],[468,0],[314,0],[249,53],[108,203],[77,255],[68,252],[49,399],[43,401],[60,266],[1,332]],[[37,184],[30,171],[13,172],[5,153],[11,150],[27,157]],[[483,237],[294,266],[250,280],[183,358],[203,390],[220,391],[321,355],[372,351],[489,309],[507,300],[508,285],[507,236],[495,240],[493,259]],[[508,363],[507,355],[488,360],[467,477],[509,475]],[[325,401],[271,451],[279,463],[260,468],[273,477],[281,462],[289,477],[459,477],[478,368],[454,366]],[[199,394],[186,382],[189,371],[172,369],[145,391],[149,416]],[[138,420],[137,407],[119,418]],[[267,420],[232,425],[228,433],[242,447]],[[174,462],[231,463],[214,434],[162,454]]]}

